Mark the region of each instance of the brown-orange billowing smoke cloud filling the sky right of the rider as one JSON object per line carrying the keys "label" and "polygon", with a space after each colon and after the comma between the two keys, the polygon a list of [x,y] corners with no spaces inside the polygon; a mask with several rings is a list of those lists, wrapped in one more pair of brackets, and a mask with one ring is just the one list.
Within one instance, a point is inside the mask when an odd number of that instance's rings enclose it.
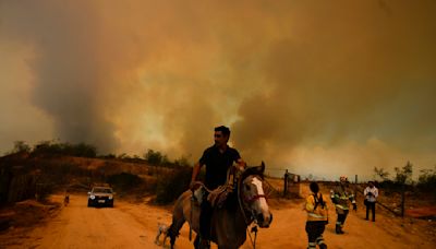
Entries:
{"label": "brown-orange billowing smoke cloud filling the sky right of the rider", "polygon": [[[244,151],[266,153],[277,167],[329,168],[324,175],[330,176],[339,168],[367,174],[375,166],[403,166],[420,157],[414,153],[434,151],[436,29],[428,11],[435,4],[408,8],[397,4],[389,14],[368,4],[335,14],[324,8],[295,12],[301,28],[270,44],[263,58],[261,74],[271,91],[240,106],[234,127]],[[372,146],[373,140],[390,149]],[[432,167],[435,159],[420,163]]]}

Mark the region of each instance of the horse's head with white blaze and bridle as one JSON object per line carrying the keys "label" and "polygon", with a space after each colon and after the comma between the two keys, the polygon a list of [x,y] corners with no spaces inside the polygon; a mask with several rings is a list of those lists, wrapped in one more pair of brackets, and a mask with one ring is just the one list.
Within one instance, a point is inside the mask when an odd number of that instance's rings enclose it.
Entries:
{"label": "horse's head with white blaze and bridle", "polygon": [[269,227],[272,214],[269,212],[264,193],[264,171],[265,164],[262,162],[261,166],[249,167],[241,174],[240,200],[261,227]]}

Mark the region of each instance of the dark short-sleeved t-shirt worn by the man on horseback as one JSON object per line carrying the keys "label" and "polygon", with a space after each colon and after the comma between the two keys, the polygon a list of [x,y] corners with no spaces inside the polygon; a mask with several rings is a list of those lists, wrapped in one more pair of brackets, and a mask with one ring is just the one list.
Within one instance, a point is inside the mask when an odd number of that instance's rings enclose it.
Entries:
{"label": "dark short-sleeved t-shirt worn by the man on horseback", "polygon": [[206,165],[206,179],[205,185],[208,189],[216,189],[218,186],[226,183],[227,170],[237,162],[241,156],[239,152],[230,146],[221,153],[215,145],[204,151],[201,165]]}

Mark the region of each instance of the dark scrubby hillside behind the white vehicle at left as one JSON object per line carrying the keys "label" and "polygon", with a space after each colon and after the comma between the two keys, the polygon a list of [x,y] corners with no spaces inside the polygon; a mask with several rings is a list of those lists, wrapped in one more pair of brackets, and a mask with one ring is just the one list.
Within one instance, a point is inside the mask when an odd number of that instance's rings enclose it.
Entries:
{"label": "dark scrubby hillside behind the white vehicle at left", "polygon": [[157,178],[172,170],[144,161],[16,153],[0,157],[0,206],[27,199],[44,200],[53,192],[87,189],[94,182],[112,181],[122,193],[133,187],[126,185],[134,178],[136,187],[147,183],[153,189]]}

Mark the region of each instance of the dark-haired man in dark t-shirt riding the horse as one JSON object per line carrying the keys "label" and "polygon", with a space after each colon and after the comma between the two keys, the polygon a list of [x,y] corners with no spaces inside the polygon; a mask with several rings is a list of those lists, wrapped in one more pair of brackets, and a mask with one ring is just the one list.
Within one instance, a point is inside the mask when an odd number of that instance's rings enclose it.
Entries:
{"label": "dark-haired man in dark t-shirt riding the horse", "polygon": [[[192,171],[190,185],[191,190],[195,190],[198,187],[196,178],[204,165],[206,165],[206,178],[204,185],[210,190],[214,190],[217,187],[226,183],[227,171],[233,165],[233,162],[237,163],[241,170],[246,167],[246,164],[241,158],[239,152],[227,144],[229,142],[229,128],[225,126],[215,128],[215,144],[206,149],[198,163],[195,164]],[[202,201],[201,204],[199,237],[202,248],[208,248],[210,240],[210,218],[213,215],[213,208],[210,202],[207,201],[207,194],[205,194],[204,200],[205,201]]]}

